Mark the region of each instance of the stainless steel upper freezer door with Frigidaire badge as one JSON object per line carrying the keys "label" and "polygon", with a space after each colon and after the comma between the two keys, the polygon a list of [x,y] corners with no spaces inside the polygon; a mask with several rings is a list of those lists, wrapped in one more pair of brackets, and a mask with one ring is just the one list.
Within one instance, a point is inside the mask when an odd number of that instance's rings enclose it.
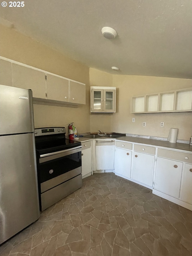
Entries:
{"label": "stainless steel upper freezer door with Frigidaire badge", "polygon": [[32,91],[0,85],[0,135],[34,132]]}

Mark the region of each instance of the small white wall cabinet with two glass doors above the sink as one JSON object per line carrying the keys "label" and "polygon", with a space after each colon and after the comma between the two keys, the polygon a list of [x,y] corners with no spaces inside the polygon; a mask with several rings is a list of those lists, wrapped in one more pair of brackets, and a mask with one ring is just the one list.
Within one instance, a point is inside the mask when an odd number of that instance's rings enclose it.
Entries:
{"label": "small white wall cabinet with two glass doors above the sink", "polygon": [[116,112],[116,87],[91,86],[91,112]]}

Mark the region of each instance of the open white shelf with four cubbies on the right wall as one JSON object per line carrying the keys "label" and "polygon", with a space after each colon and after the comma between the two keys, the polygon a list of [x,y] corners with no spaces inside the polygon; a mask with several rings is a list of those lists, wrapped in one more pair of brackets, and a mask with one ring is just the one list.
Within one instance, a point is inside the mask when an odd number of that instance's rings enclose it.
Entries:
{"label": "open white shelf with four cubbies on the right wall", "polygon": [[192,111],[192,88],[140,95],[132,98],[131,113]]}

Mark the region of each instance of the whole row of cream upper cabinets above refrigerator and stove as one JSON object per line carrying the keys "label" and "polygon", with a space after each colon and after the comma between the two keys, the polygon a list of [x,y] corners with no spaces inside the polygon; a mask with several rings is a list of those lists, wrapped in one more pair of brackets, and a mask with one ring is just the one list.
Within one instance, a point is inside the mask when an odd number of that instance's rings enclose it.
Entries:
{"label": "whole row of cream upper cabinets above refrigerator and stove", "polygon": [[31,89],[34,104],[65,107],[78,107],[77,104],[85,104],[84,83],[4,57],[0,57],[0,66],[0,84]]}

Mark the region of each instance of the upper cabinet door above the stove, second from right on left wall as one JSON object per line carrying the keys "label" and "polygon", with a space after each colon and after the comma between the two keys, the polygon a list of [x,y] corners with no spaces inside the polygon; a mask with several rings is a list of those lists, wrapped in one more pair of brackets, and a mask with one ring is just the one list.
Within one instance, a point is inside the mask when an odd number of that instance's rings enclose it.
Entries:
{"label": "upper cabinet door above the stove, second from right on left wall", "polygon": [[69,102],[69,80],[46,75],[47,80],[47,99],[55,101]]}

